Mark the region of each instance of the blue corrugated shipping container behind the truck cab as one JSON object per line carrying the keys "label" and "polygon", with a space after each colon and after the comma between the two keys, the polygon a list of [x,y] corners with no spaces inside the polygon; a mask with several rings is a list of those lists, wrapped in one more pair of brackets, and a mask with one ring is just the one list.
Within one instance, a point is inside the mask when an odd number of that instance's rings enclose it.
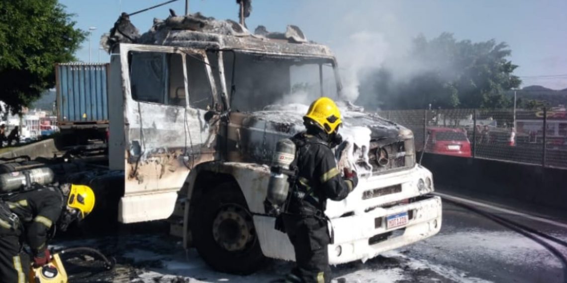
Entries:
{"label": "blue corrugated shipping container behind the truck cab", "polygon": [[109,63],[56,65],[60,126],[108,123]]}

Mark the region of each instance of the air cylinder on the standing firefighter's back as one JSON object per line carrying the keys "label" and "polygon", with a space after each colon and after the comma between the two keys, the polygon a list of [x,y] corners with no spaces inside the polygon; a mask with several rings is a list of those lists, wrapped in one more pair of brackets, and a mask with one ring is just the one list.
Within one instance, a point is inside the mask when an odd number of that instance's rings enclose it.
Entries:
{"label": "air cylinder on the standing firefighter's back", "polygon": [[[272,158],[272,173],[268,182],[268,200],[273,208],[280,209],[287,199],[289,192],[288,175],[278,171],[278,168],[289,170],[291,162],[295,159],[295,143],[290,139],[282,139],[276,144],[276,152]],[[274,170],[275,169],[275,170]]]}

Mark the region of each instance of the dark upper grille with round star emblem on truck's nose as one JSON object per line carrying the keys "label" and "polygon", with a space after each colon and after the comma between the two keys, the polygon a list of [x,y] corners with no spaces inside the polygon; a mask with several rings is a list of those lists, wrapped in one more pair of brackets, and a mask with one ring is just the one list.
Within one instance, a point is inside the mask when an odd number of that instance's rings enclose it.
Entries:
{"label": "dark upper grille with round star emblem on truck's nose", "polygon": [[371,142],[368,157],[373,173],[405,168],[407,165],[404,141],[397,141],[382,147],[379,147],[378,143]]}

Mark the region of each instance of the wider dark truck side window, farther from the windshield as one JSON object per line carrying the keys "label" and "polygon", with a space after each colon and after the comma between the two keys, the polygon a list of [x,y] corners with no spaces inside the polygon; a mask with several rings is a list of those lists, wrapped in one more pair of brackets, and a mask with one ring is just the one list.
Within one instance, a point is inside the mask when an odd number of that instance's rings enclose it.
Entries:
{"label": "wider dark truck side window, farther from the windshield", "polygon": [[180,54],[130,52],[130,89],[136,101],[185,106]]}

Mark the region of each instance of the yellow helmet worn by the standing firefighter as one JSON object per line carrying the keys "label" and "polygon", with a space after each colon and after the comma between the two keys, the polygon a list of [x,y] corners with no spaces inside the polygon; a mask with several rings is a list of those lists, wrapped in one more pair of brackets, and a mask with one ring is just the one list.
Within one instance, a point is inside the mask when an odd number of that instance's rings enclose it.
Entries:
{"label": "yellow helmet worn by the standing firefighter", "polygon": [[307,114],[303,116],[303,119],[306,118],[315,121],[327,134],[334,132],[342,123],[341,112],[335,101],[329,97],[321,97],[313,101]]}

